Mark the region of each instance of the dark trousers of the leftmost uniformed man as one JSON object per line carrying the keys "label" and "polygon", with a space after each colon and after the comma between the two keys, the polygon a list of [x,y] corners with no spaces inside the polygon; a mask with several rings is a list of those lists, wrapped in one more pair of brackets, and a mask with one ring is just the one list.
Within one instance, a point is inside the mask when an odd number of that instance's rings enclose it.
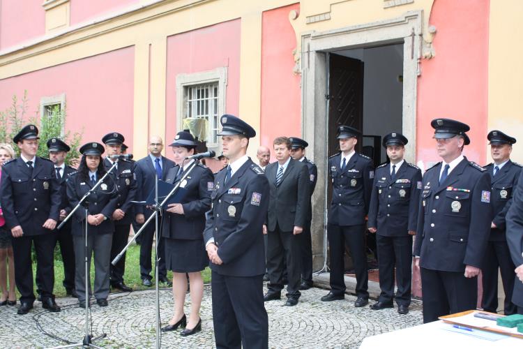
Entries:
{"label": "dark trousers of the leftmost uniformed man", "polygon": [[54,297],[54,244],[52,232],[43,235],[13,237],[13,260],[15,261],[15,282],[20,292],[20,302],[33,304],[33,269],[31,243],[36,251],[36,266],[40,270],[42,300]]}

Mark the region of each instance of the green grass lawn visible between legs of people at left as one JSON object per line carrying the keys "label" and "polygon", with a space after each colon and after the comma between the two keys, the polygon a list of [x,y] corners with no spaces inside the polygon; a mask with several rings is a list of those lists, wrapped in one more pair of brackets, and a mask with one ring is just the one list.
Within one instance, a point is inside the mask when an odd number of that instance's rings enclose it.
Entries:
{"label": "green grass lawn visible between legs of people at left", "polygon": [[[154,252],[153,252],[154,254]],[[146,287],[142,285],[142,279],[140,278],[140,246],[132,244],[126,255],[126,274],[123,276],[123,280],[126,285],[133,288],[134,290],[154,290],[153,287]],[[154,267],[154,260],[153,260]],[[153,269],[154,272],[154,269]],[[152,273],[153,273],[152,272]],[[207,267],[203,272],[204,283],[211,282],[211,269]],[[36,275],[36,263],[33,263],[33,277]],[[172,280],[172,272],[167,272],[167,277]],[[56,297],[66,297],[66,289],[63,288],[63,264],[61,260],[54,260],[54,295]],[[91,258],[91,285],[94,285],[94,260]],[[165,284],[160,284],[160,287],[167,287]],[[36,295],[36,285],[35,285]],[[17,297],[20,294],[17,292]]]}

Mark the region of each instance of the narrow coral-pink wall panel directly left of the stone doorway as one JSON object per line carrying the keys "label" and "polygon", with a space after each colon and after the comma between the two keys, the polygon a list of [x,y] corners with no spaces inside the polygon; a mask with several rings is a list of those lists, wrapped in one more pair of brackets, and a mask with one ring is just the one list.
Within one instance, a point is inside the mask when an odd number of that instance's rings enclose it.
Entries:
{"label": "narrow coral-pink wall panel directly left of the stone doorway", "polygon": [[[261,18],[260,144],[273,148],[278,136],[301,138],[300,75],[293,73],[296,36],[289,12],[299,3],[268,10]],[[271,151],[271,162],[275,161]]]}

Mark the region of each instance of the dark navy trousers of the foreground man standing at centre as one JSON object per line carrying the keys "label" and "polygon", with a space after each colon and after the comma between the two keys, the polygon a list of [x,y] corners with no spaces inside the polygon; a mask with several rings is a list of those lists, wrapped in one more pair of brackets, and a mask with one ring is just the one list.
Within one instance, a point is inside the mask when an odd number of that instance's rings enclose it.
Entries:
{"label": "dark navy trousers of the foreground man standing at centre", "polygon": [[211,277],[216,348],[268,348],[263,275]]}

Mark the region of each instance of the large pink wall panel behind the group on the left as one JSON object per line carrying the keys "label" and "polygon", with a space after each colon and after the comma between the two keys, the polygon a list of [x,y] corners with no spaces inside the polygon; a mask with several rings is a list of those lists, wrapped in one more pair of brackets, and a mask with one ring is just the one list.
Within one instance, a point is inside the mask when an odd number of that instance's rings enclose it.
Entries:
{"label": "large pink wall panel behind the group on the left", "polygon": [[[82,131],[82,142],[101,142],[118,131],[132,148],[134,47],[0,80],[0,110],[11,97],[28,92],[28,117],[40,110],[40,98],[66,94],[66,130]],[[129,152],[132,149],[129,149]]]}

